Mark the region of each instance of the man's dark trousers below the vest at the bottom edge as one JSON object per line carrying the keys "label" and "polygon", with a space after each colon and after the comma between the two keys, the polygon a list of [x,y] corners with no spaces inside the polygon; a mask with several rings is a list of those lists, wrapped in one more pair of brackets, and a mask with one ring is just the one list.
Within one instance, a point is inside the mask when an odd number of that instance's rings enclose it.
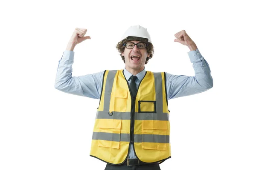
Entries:
{"label": "man's dark trousers below the vest at the bottom edge", "polygon": [[161,170],[159,164],[143,164],[135,166],[107,164],[105,170]]}

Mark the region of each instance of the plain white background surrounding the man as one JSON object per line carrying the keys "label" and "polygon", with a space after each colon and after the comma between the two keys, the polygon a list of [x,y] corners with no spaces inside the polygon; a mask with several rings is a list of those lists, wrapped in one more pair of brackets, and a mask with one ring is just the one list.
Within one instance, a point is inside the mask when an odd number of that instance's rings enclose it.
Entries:
{"label": "plain white background surrounding the man", "polygon": [[194,76],[174,42],[185,30],[207,60],[213,88],[169,100],[172,158],[162,170],[255,170],[256,12],[249,0],[70,0],[0,4],[0,170],[104,170],[90,157],[98,99],[54,88],[58,61],[75,28],[73,76],[123,69],[124,31],[146,27],[155,54],[146,70]]}

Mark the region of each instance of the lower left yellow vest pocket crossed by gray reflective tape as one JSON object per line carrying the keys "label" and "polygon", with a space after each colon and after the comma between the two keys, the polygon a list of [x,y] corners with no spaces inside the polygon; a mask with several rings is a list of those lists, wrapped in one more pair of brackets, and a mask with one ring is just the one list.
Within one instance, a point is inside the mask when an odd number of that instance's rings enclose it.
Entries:
{"label": "lower left yellow vest pocket crossed by gray reflective tape", "polygon": [[119,149],[121,124],[121,119],[100,119],[98,146]]}

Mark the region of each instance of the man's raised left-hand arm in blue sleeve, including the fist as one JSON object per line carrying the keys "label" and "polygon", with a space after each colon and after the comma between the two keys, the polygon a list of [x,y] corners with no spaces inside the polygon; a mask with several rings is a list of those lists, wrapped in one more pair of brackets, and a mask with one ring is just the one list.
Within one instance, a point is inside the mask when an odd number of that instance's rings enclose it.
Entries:
{"label": "man's raised left-hand arm in blue sleeve, including the fist", "polygon": [[86,31],[86,29],[75,29],[67,45],[66,51],[64,51],[59,60],[54,87],[65,93],[99,99],[104,71],[72,77],[72,65],[74,62],[73,50],[80,42],[90,39],[89,36],[83,37]]}

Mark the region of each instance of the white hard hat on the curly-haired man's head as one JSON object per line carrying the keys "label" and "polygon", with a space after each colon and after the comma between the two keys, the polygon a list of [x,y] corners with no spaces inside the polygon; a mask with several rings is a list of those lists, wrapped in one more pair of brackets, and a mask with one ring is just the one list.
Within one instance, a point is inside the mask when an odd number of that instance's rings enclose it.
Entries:
{"label": "white hard hat on the curly-haired man's head", "polygon": [[127,37],[141,37],[148,39],[148,42],[151,42],[150,35],[148,34],[147,28],[144,28],[140,25],[131,26],[128,28],[125,33],[122,35],[121,41],[127,39]]}

